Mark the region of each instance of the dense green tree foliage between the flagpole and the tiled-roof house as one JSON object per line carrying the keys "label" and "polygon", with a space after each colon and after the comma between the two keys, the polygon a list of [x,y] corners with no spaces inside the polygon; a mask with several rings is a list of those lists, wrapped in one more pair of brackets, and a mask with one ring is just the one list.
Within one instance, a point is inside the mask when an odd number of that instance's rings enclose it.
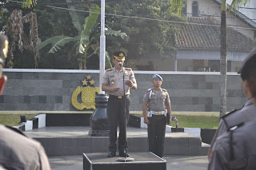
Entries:
{"label": "dense green tree foliage between the flagpole and the tiled-roof house", "polygon": [[[106,3],[106,27],[125,32],[129,41],[125,44],[110,41],[116,48],[128,50],[132,58],[146,57],[156,50],[162,57],[170,57],[174,52],[174,38],[179,26],[173,22],[185,20],[178,14],[182,1],[122,0]],[[174,6],[176,4],[177,6]],[[122,17],[126,16],[126,17]],[[127,17],[128,16],[128,17]],[[145,19],[146,18],[146,19]],[[108,46],[106,45],[106,49]],[[110,49],[108,49],[110,51]],[[112,48],[115,50],[115,48]]]}

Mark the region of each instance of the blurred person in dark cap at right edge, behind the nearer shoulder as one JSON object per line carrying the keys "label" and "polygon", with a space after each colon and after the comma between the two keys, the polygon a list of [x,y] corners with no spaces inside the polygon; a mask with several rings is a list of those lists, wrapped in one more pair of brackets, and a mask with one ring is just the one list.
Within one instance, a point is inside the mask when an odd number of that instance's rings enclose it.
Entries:
{"label": "blurred person in dark cap at right edge, behind the nearer shoulder", "polygon": [[221,117],[221,121],[218,125],[218,129],[215,132],[214,138],[210,144],[210,150],[208,158],[212,155],[212,148],[218,136],[221,136],[228,128],[238,125],[246,121],[256,121],[256,108],[253,105],[254,97],[249,93],[248,88],[253,87],[253,77],[256,78],[256,63],[255,63],[256,48],[254,48],[246,57],[246,61],[242,65],[242,69],[239,71],[242,78],[242,91],[246,98],[246,104],[242,109],[234,109],[234,111]]}

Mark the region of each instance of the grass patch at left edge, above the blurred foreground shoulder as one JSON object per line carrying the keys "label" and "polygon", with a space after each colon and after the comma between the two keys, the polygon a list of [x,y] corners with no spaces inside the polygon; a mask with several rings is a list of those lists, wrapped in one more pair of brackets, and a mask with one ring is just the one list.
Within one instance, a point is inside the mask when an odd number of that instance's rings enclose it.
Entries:
{"label": "grass patch at left edge, above the blurred foreground shoulder", "polygon": [[[32,117],[38,114],[26,114],[26,120],[30,120]],[[20,115],[18,114],[0,114],[0,124],[16,126],[21,121]]]}

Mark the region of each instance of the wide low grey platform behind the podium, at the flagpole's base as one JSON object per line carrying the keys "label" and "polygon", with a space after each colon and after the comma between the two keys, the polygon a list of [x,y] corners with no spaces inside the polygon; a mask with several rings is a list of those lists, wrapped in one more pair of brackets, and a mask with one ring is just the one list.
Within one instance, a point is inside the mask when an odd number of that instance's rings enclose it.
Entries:
{"label": "wide low grey platform behind the podium, at the flagpole's base", "polygon": [[[48,156],[82,155],[83,152],[108,152],[108,136],[89,136],[88,126],[35,128],[26,135],[41,142]],[[148,152],[146,128],[127,128],[127,152]],[[186,132],[166,132],[165,155],[205,155],[202,140]]]}

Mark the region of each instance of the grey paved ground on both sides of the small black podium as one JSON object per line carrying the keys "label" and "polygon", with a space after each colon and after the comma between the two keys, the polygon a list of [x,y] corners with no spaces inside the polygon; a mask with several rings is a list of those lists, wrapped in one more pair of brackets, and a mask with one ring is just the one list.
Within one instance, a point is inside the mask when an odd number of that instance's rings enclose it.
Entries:
{"label": "grey paved ground on both sides of the small black podium", "polygon": [[[167,170],[206,170],[206,156],[164,156]],[[82,170],[82,156],[49,157],[52,170]]]}

